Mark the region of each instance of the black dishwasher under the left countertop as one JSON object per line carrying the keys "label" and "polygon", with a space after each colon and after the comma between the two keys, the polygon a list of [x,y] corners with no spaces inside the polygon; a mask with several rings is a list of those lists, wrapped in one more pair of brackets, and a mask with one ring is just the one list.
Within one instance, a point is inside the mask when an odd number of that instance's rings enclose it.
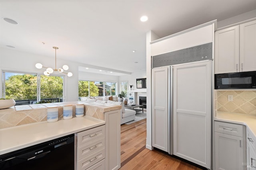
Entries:
{"label": "black dishwasher under the left countertop", "polygon": [[74,134],[0,155],[0,170],[74,170]]}

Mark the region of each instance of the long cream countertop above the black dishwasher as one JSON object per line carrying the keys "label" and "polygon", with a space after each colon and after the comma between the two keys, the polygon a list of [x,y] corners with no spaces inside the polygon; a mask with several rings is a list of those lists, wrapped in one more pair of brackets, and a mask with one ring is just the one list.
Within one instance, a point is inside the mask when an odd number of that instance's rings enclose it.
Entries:
{"label": "long cream countertop above the black dishwasher", "polygon": [[103,120],[85,115],[0,129],[0,155],[104,124]]}

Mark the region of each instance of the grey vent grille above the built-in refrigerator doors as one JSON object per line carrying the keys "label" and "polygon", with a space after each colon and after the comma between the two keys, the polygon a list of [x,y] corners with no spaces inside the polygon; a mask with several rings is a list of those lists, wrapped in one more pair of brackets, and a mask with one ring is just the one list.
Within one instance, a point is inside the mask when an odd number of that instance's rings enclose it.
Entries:
{"label": "grey vent grille above the built-in refrigerator doors", "polygon": [[212,59],[212,42],[152,57],[152,68]]}

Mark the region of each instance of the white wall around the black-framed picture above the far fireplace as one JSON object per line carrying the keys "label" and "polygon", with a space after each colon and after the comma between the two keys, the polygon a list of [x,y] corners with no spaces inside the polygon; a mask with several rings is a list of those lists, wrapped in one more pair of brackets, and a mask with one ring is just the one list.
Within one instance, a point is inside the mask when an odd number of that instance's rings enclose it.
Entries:
{"label": "white wall around the black-framed picture above the far fireplace", "polygon": [[[130,90],[130,84],[132,84],[132,90],[141,90],[136,88],[136,78],[146,78],[146,70],[132,72],[130,75],[119,76],[119,82],[128,81],[128,90]],[[148,84],[146,85],[148,87]]]}

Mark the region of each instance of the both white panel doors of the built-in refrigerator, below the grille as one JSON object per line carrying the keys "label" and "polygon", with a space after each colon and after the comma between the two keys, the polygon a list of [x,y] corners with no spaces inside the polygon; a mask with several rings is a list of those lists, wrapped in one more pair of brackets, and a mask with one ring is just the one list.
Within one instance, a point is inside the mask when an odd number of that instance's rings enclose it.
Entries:
{"label": "both white panel doors of the built-in refrigerator, below the grille", "polygon": [[152,146],[211,164],[212,61],[152,68]]}

